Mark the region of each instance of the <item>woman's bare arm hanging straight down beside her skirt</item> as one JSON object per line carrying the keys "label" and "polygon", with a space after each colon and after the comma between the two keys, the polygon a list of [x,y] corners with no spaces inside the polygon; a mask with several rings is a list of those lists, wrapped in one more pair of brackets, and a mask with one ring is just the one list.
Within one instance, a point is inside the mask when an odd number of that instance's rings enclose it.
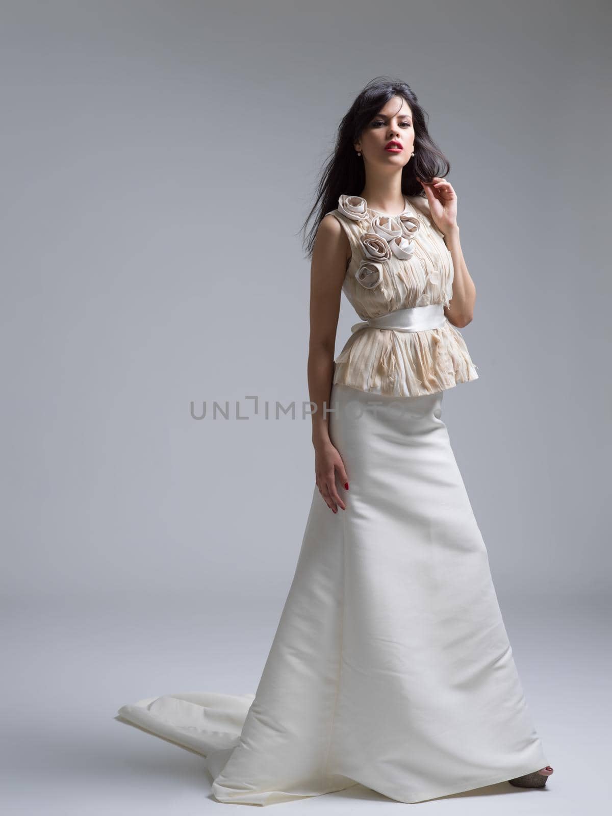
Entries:
{"label": "woman's bare arm hanging straight down beside her skirt", "polygon": [[342,284],[351,250],[348,237],[334,215],[326,215],[317,229],[310,274],[310,340],[308,344],[308,392],[313,408],[313,446],[317,486],[327,506],[343,510],[335,483],[338,471],[343,485],[347,473],[329,435],[331,384],[334,374],[335,335],[338,328]]}

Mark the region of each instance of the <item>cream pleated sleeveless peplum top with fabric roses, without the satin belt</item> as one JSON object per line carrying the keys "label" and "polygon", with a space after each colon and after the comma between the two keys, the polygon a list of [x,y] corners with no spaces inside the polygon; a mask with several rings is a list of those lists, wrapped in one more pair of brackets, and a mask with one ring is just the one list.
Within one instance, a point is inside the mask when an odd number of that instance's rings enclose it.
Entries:
{"label": "cream pleated sleeveless peplum top with fabric roses, without the satin belt", "polygon": [[[404,211],[394,217],[370,210],[359,196],[340,196],[337,209],[330,211],[351,246],[342,290],[361,320],[414,306],[448,306],[453,296],[452,256],[431,218],[428,199],[404,198]],[[445,317],[437,329],[367,326],[356,331],[334,361],[332,383],[419,397],[474,379],[477,366],[463,336]]]}

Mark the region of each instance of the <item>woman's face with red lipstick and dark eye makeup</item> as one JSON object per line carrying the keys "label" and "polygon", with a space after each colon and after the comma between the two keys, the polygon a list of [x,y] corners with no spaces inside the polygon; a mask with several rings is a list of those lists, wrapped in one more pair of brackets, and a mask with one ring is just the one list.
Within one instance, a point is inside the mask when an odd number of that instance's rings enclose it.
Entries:
{"label": "woman's face with red lipstick and dark eye makeup", "polygon": [[415,131],[410,105],[403,96],[393,96],[366,125],[355,149],[361,152],[364,162],[403,167],[410,162],[413,144]]}

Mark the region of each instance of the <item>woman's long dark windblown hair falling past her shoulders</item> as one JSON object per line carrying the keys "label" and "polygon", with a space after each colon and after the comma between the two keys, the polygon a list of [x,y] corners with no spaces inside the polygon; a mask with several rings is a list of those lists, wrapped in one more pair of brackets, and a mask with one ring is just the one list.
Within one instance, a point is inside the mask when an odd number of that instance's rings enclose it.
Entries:
{"label": "woman's long dark windblown hair falling past her shoulders", "polygon": [[366,184],[363,159],[357,156],[354,143],[361,131],[370,124],[375,115],[393,96],[402,96],[412,111],[412,126],[415,129],[415,155],[401,173],[401,190],[406,196],[425,195],[416,180],[418,175],[425,182],[431,182],[434,175],[443,178],[450,171],[450,162],[432,140],[428,131],[428,113],[421,107],[416,94],[406,82],[388,77],[375,77],[363,88],[344,115],[338,127],[335,148],[323,166],[317,185],[317,198],[313,209],[300,232],[308,228],[308,222],[315,215],[304,246],[308,257],[313,255],[314,239],[323,217],[335,210],[341,195],[357,196]]}

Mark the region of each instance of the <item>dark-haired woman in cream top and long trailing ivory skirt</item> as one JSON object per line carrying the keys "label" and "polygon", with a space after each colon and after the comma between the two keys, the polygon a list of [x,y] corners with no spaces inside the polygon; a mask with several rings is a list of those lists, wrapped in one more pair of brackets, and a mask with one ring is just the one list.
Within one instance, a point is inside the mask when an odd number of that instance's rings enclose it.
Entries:
{"label": "dark-haired woman in cream top and long trailing ivory skirt", "polygon": [[[370,82],[322,175],[308,245],[316,486],[255,695],[119,711],[205,755],[221,802],[357,783],[419,802],[552,774],[441,420],[443,392],[478,378],[458,328],[475,287],[425,119],[409,86]],[[342,290],[361,322],[334,361]]]}

